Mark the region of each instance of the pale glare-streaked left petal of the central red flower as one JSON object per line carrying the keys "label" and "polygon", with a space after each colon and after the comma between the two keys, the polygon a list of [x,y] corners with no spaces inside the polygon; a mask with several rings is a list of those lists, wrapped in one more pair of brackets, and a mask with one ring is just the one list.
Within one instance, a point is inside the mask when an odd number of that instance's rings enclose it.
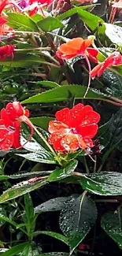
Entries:
{"label": "pale glare-streaked left petal of the central red flower", "polygon": [[59,132],[59,130],[61,130],[62,128],[68,128],[68,125],[63,124],[59,121],[50,121],[49,122],[48,131],[50,133]]}

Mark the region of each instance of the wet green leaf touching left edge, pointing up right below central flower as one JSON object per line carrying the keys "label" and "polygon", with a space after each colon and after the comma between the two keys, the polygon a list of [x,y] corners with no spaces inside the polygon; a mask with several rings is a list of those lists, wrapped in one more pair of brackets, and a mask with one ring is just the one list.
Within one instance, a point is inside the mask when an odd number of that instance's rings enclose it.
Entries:
{"label": "wet green leaf touching left edge, pointing up right below central flower", "polygon": [[47,180],[37,180],[35,182],[29,182],[29,180],[22,181],[3,192],[3,194],[0,196],[0,203],[7,202],[13,198],[17,198],[20,195],[25,195],[26,193],[44,186],[46,183]]}

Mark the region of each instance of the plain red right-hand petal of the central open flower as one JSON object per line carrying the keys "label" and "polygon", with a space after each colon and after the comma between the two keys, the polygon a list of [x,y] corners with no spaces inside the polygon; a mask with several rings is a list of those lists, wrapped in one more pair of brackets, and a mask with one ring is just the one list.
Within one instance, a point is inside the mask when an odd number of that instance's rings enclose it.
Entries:
{"label": "plain red right-hand petal of the central open flower", "polygon": [[90,124],[85,126],[79,126],[76,131],[82,137],[89,137],[93,138],[98,132],[98,125],[97,124]]}

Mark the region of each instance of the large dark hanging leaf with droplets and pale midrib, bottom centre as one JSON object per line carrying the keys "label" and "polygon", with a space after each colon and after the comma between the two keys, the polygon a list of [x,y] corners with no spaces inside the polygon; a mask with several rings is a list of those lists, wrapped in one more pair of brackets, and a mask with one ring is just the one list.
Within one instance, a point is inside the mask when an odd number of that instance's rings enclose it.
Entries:
{"label": "large dark hanging leaf with droplets and pale midrib, bottom centre", "polygon": [[70,245],[70,254],[91,230],[97,217],[94,202],[86,195],[71,199],[61,210],[60,228]]}

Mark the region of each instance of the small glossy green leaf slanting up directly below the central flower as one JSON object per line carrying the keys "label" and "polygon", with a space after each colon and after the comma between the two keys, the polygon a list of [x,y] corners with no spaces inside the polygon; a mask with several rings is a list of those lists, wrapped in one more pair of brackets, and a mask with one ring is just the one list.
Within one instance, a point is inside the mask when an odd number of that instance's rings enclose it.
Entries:
{"label": "small glossy green leaf slanting up directly below the central flower", "polygon": [[53,173],[48,177],[49,181],[57,181],[65,179],[68,176],[72,175],[72,172],[75,171],[76,166],[78,165],[77,160],[72,160],[66,165],[63,169],[56,169]]}

